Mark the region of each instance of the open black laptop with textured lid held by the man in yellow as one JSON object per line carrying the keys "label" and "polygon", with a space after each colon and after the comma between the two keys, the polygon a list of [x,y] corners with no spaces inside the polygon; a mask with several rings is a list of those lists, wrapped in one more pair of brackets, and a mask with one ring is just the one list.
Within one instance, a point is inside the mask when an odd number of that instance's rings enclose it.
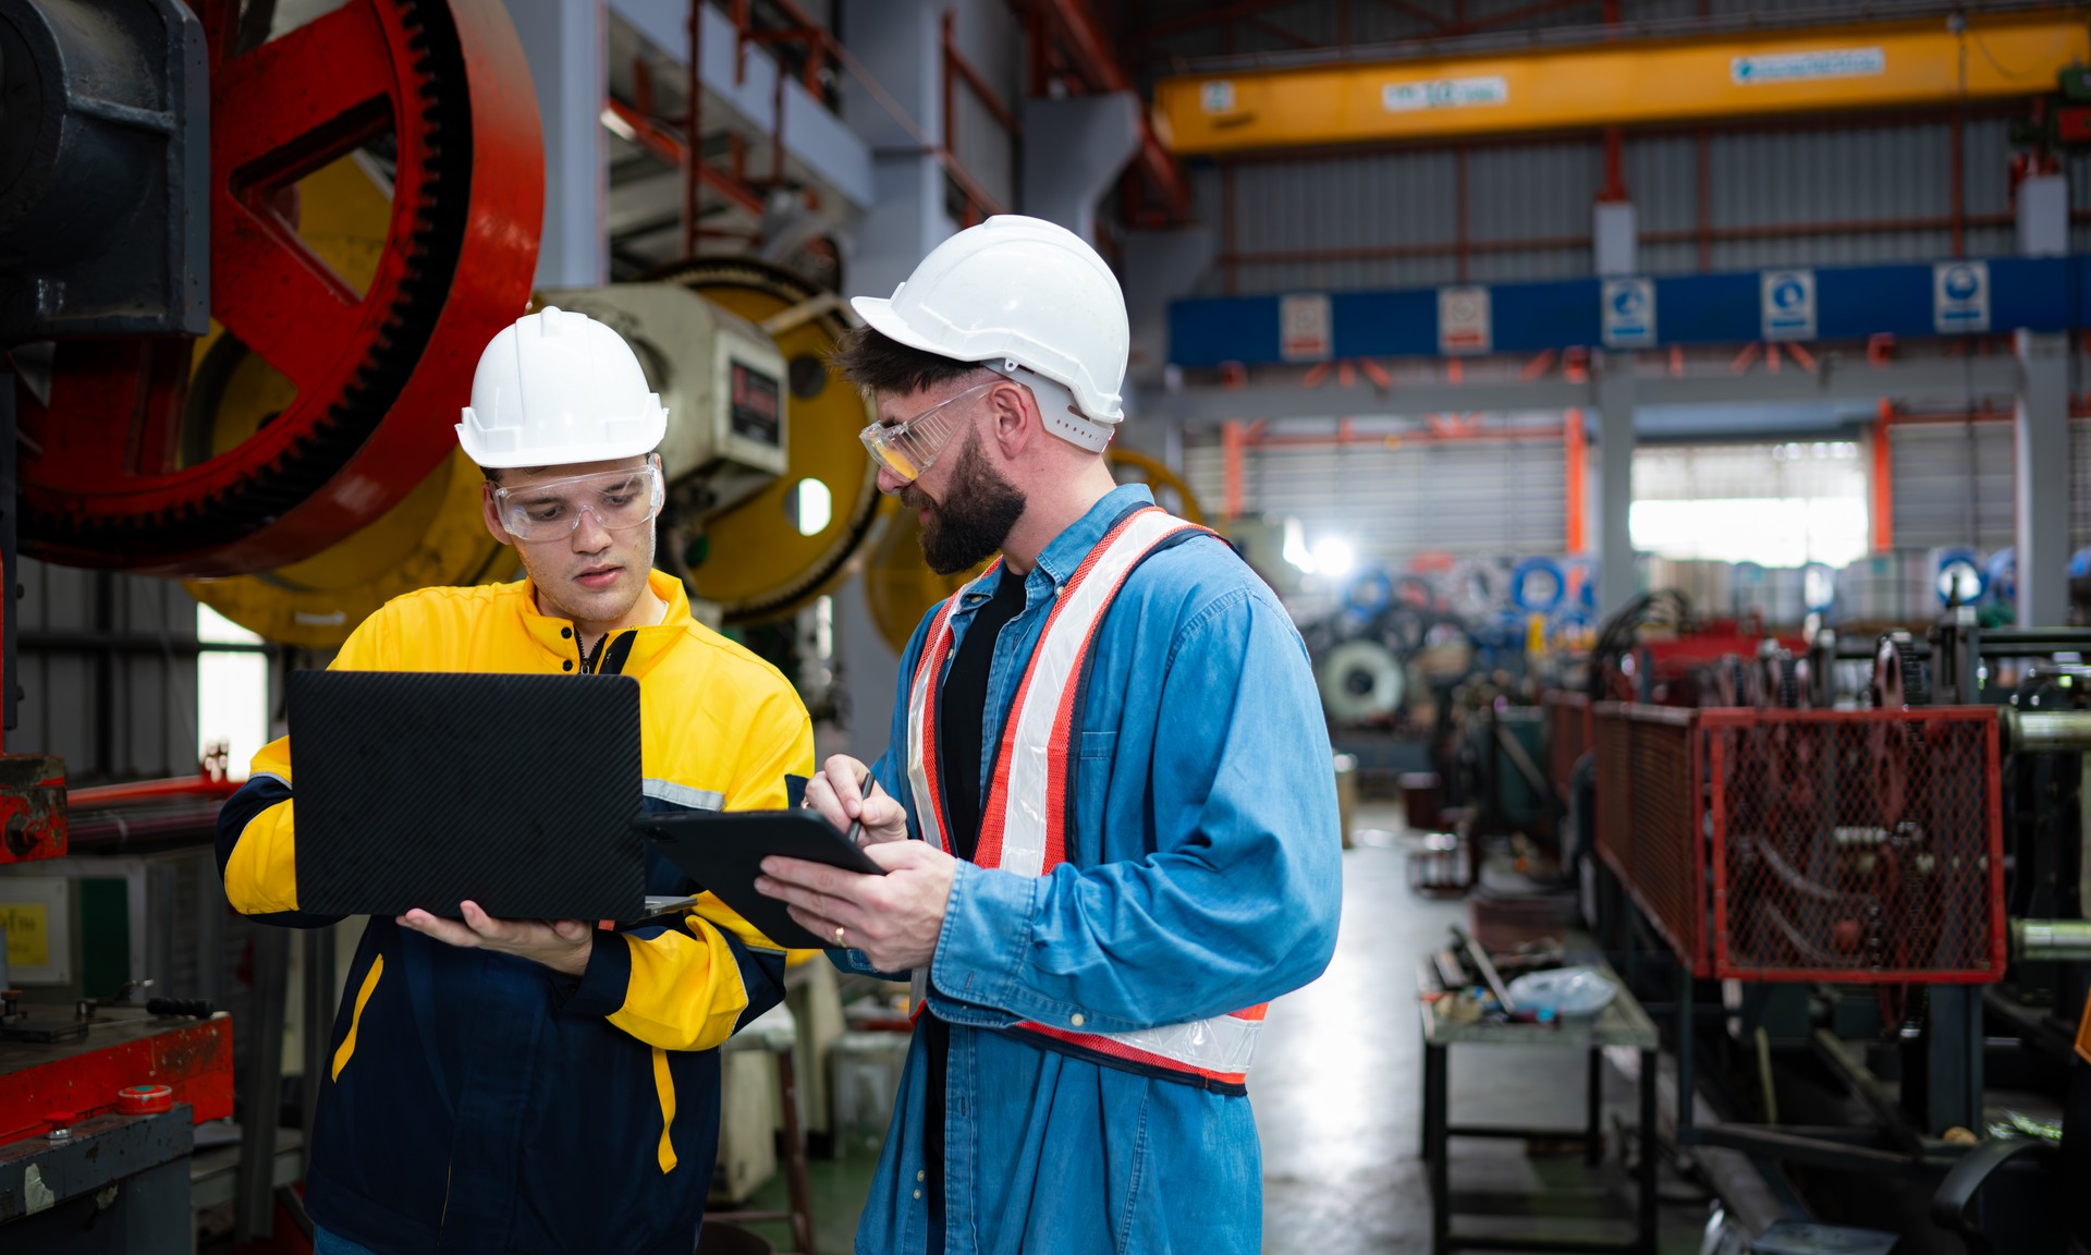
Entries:
{"label": "open black laptop with textured lid held by the man in yellow", "polygon": [[638,680],[293,671],[289,699],[299,910],[644,914]]}

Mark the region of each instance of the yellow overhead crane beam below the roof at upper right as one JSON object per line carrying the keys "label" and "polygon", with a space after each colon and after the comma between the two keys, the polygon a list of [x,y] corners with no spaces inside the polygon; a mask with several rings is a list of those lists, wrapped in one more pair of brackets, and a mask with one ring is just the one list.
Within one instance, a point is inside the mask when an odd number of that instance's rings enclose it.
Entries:
{"label": "yellow overhead crane beam below the roof at upper right", "polygon": [[2091,63],[2066,10],[1167,77],[1179,155],[2039,96]]}

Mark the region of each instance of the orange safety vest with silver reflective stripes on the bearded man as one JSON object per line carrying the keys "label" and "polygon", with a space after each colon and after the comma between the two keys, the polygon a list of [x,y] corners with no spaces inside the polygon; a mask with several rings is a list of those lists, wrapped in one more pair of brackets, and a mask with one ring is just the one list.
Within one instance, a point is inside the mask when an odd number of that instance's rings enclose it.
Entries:
{"label": "orange safety vest with silver reflective stripes on the bearded man", "polygon": [[[1079,743],[1077,703],[1087,659],[1096,651],[1098,628],[1125,579],[1156,548],[1184,531],[1207,531],[1156,506],[1135,510],[1117,523],[1081,567],[1060,586],[1046,617],[1046,630],[1025,678],[1016,686],[995,774],[981,814],[974,862],[1020,876],[1041,876],[1066,862],[1069,789]],[[937,778],[937,701],[951,659],[951,611],[999,571],[999,565],[953,594],[930,619],[907,688],[907,782],[916,797],[922,839],[951,849],[943,830],[943,782]],[[922,981],[918,979],[918,985]],[[920,989],[918,989],[920,994]],[[920,1006],[920,998],[918,998]],[[1018,1023],[1016,1031],[1073,1046],[1106,1063],[1156,1069],[1184,1079],[1242,1086],[1263,1029],[1263,1006],[1250,1006],[1204,1021],[1133,1029],[1127,1033],[1085,1033],[1039,1023]]]}

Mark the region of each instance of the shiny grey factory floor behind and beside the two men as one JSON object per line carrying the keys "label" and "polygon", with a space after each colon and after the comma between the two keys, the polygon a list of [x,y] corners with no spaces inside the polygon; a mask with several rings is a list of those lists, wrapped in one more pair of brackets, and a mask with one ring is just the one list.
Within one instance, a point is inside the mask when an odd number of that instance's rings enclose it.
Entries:
{"label": "shiny grey factory floor behind and beside the two men", "polygon": [[[1395,1255],[1430,1249],[1430,1196],[1418,1157],[1422,1031],[1416,960],[1466,918],[1464,902],[1428,902],[1407,889],[1391,841],[1399,809],[1368,803],[1357,828],[1368,845],[1345,853],[1345,910],[1328,973],[1271,1004],[1248,1092],[1263,1134],[1263,1251],[1271,1255]],[[1606,1127],[1635,1121],[1627,1077],[1606,1069]],[[1577,1127],[1583,1067],[1558,1052],[1453,1050],[1457,1123]],[[1453,1196],[1491,1232],[1629,1236],[1631,1211],[1616,1146],[1587,1169],[1579,1150],[1531,1155],[1524,1142],[1455,1142]],[[874,1155],[813,1161],[815,1245],[853,1251],[857,1211]],[[1610,1186],[1618,1186],[1616,1190]],[[1708,1205],[1662,1176],[1662,1255],[1696,1253]],[[784,1207],[782,1180],[749,1207]],[[1612,1217],[1612,1219],[1608,1219]],[[755,1226],[788,1249],[784,1226]]]}

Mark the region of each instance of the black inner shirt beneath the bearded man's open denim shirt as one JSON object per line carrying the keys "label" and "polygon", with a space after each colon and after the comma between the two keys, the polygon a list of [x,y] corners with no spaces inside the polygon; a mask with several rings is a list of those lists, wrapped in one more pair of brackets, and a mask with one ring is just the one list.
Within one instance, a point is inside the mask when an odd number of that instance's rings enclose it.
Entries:
{"label": "black inner shirt beneath the bearded man's open denim shirt", "polygon": [[[987,671],[995,661],[995,638],[1025,609],[1025,581],[1010,571],[958,642],[937,701],[937,766],[943,776],[943,818],[951,853],[972,862],[981,847],[981,749],[987,736]],[[928,1180],[928,1249],[943,1251],[943,1088],[951,1060],[951,1025],[922,1017],[928,1048],[928,1094],[922,1159]]]}

